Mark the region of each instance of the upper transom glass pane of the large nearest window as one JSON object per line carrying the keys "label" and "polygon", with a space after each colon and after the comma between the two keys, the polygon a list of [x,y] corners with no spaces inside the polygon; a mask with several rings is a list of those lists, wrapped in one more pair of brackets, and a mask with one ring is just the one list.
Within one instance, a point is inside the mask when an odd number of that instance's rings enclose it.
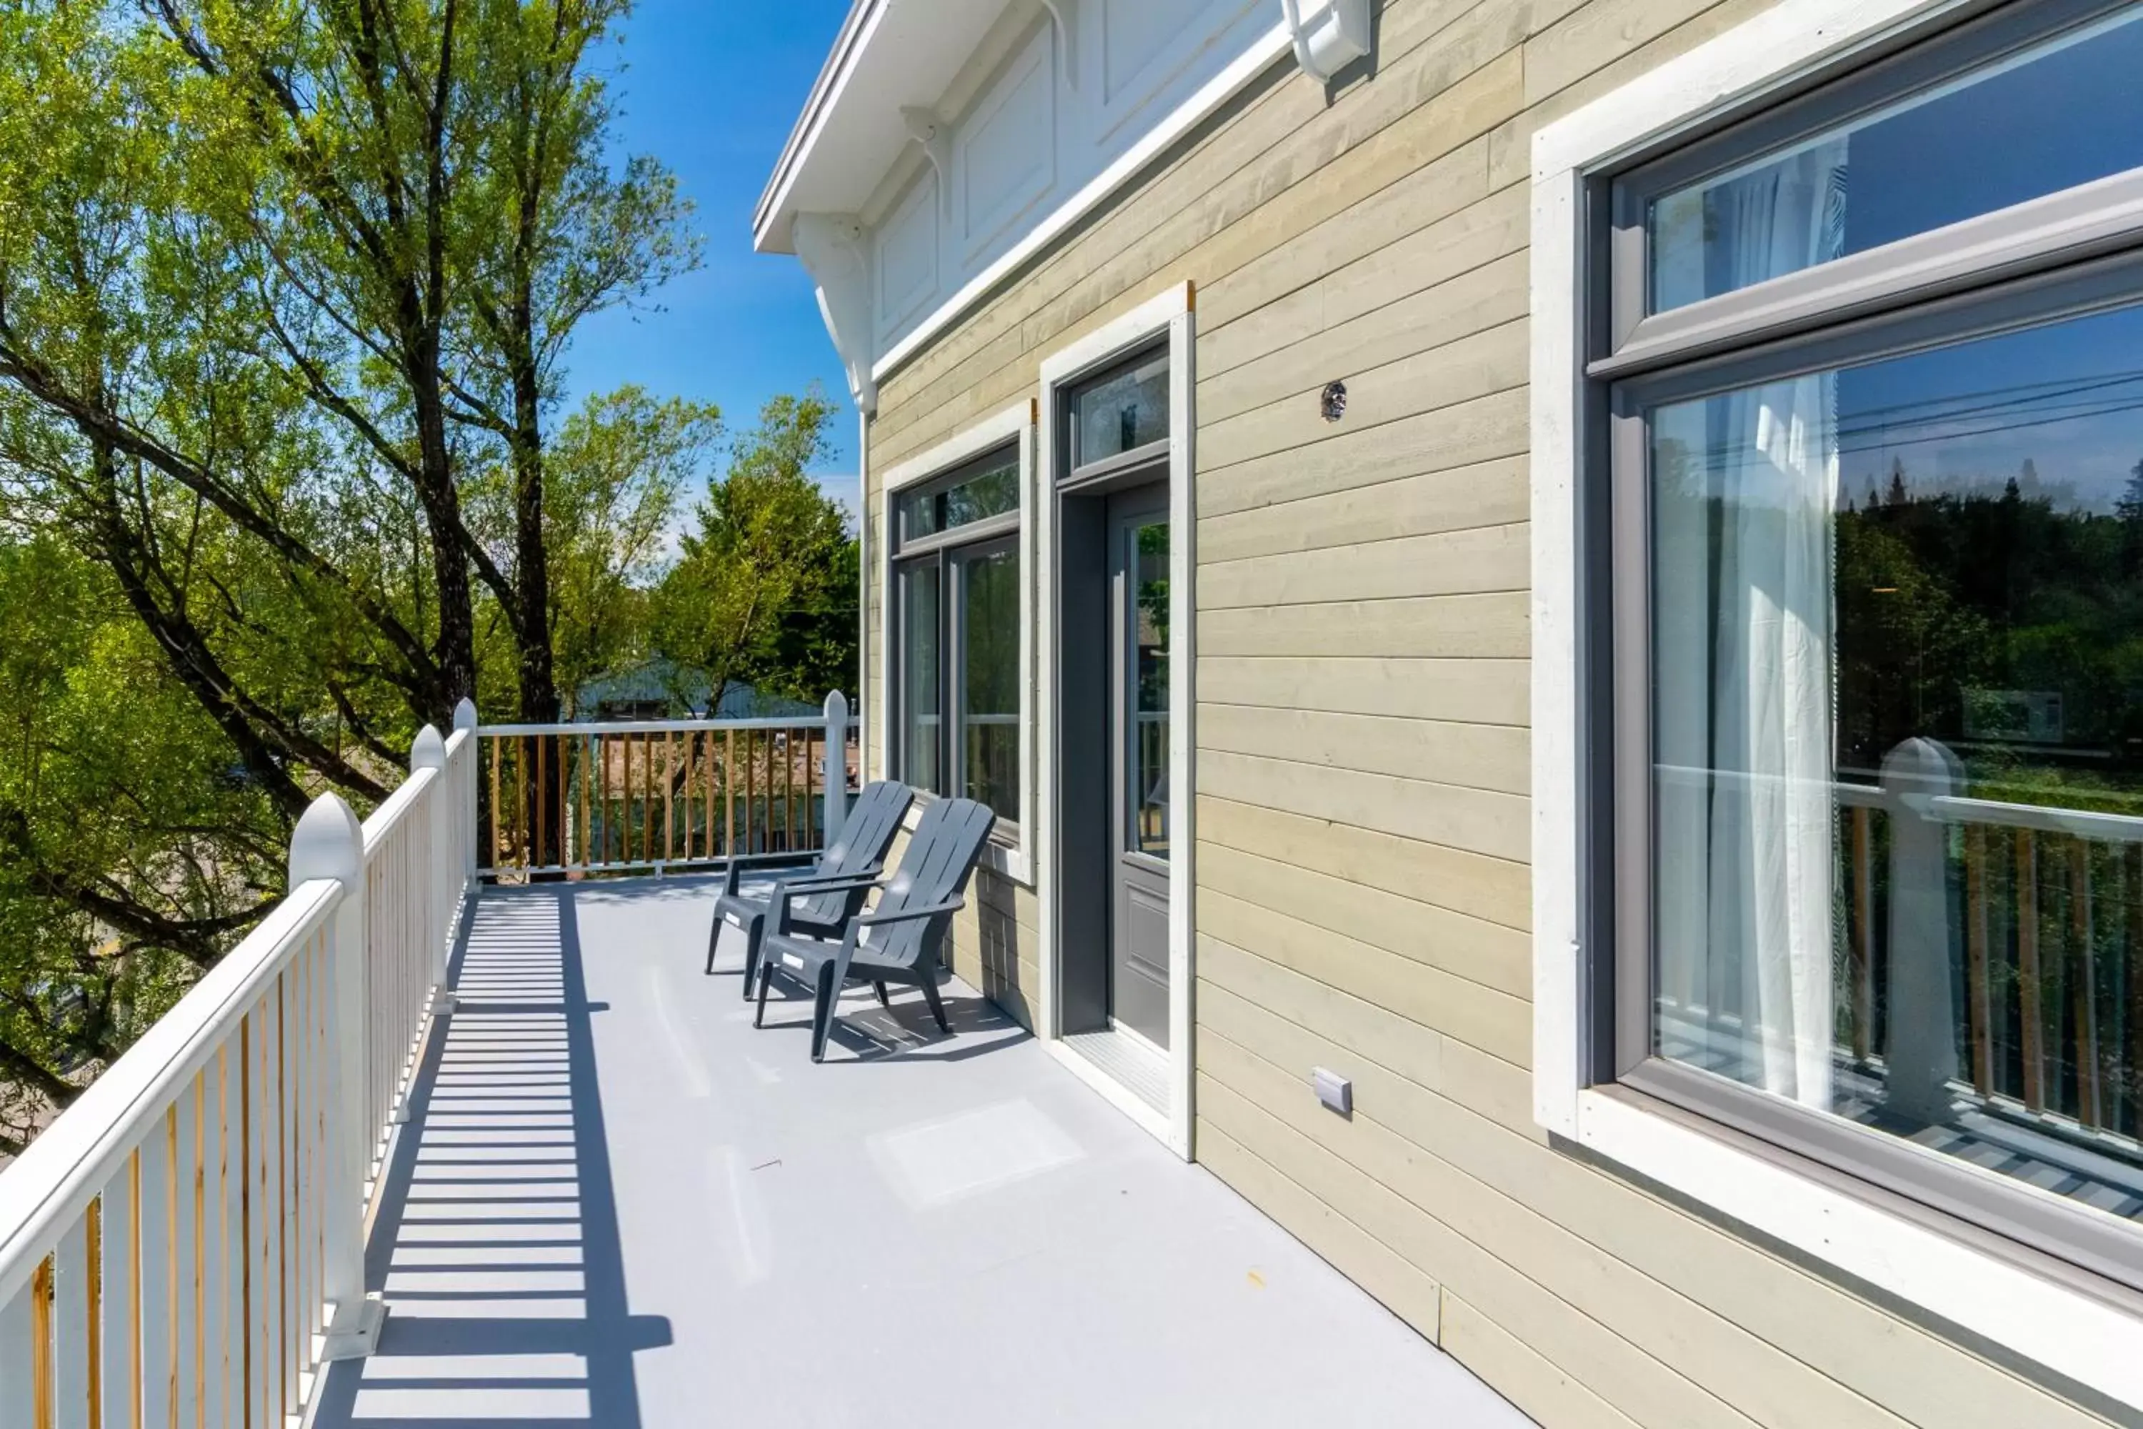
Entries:
{"label": "upper transom glass pane of the large nearest window", "polygon": [[1652,199],[1650,311],[2143,165],[2143,6]]}

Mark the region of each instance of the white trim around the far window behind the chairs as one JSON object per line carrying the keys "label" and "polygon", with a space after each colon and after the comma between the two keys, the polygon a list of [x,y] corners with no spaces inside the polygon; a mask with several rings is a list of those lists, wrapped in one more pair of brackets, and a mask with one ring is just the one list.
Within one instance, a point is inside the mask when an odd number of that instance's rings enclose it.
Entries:
{"label": "white trim around the far window behind the chairs", "polygon": [[[879,737],[885,739],[885,769],[894,765],[894,493],[917,486],[934,476],[951,471],[960,463],[984,452],[1016,441],[1020,450],[1020,842],[1016,846],[990,842],[984,848],[984,868],[1035,885],[1035,405],[1005,407],[996,416],[975,422],[947,441],[936,443],[919,456],[891,467],[879,482],[879,688],[872,698],[872,716],[879,722]],[[947,711],[947,718],[951,711]],[[906,827],[915,827],[919,810],[911,808]]]}

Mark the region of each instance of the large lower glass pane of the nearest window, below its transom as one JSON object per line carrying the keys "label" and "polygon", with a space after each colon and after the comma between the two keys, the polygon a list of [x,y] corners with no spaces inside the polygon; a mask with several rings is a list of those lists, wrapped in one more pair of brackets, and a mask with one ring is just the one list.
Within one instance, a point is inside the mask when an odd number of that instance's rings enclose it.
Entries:
{"label": "large lower glass pane of the nearest window, below its transom", "polygon": [[1654,407],[1652,1050],[2143,1219],[2143,309]]}

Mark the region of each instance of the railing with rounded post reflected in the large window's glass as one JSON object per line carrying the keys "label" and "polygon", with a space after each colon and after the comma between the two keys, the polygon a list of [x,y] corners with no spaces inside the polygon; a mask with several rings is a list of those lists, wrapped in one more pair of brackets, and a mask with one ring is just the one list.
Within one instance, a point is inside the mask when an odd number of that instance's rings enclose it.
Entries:
{"label": "railing with rounded post reflected in the large window's glass", "polygon": [[[1667,784],[1753,776],[1661,767]],[[1914,739],[1877,782],[1828,786],[1845,949],[1839,1052],[1922,1120],[1959,1103],[2143,1144],[2143,818],[1967,797]],[[1697,1020],[1717,1009],[1663,1005]],[[1963,1003],[1959,1007],[1959,1003]]]}

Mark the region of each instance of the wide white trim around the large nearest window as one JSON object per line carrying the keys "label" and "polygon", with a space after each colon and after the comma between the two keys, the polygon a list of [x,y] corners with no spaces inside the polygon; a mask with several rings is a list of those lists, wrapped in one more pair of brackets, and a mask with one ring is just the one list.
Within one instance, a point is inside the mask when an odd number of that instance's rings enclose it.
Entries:
{"label": "wide white trim around the large nearest window", "polygon": [[1532,139],[1532,1097],[1534,1120],[2089,1390],[2143,1408],[2143,1322],[1624,1097],[1590,1090],[1579,908],[1584,178],[1616,159],[1963,9],[1779,0],[1762,17],[1543,126]]}

